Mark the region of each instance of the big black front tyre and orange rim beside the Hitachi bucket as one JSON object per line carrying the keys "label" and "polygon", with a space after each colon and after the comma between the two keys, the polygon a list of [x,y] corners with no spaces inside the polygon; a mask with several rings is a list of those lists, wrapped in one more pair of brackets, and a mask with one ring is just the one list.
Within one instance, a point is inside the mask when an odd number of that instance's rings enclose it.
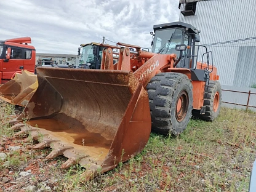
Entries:
{"label": "big black front tyre and orange rim beside the Hitachi bucket", "polygon": [[193,94],[190,79],[182,73],[159,73],[146,86],[152,129],[178,135],[190,121]]}

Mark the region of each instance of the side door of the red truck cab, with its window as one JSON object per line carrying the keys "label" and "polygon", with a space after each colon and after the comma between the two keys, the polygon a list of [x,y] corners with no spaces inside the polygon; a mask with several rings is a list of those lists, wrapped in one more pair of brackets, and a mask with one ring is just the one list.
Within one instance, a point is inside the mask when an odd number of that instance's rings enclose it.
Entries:
{"label": "side door of the red truck cab, with its window", "polygon": [[[10,47],[10,46],[8,46]],[[7,48],[6,47],[6,54]],[[23,50],[18,47],[10,47],[10,58],[5,58],[2,62],[2,79],[11,79],[17,71],[21,71],[24,65]]]}

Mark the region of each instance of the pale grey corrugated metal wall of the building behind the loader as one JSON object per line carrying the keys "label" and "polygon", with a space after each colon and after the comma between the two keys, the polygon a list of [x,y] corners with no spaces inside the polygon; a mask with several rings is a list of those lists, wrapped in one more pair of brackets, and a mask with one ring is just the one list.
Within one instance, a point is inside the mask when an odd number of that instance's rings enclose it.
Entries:
{"label": "pale grey corrugated metal wall of the building behind the loader", "polygon": [[[199,1],[196,4],[196,15],[184,17],[180,14],[180,22],[190,23],[201,30],[201,44],[252,38],[256,37],[255,7],[256,0]],[[244,78],[251,79],[244,84],[235,81],[239,76],[239,70],[243,71],[242,74],[247,74],[256,67],[255,60],[248,59],[248,57],[255,58],[251,49],[255,50],[256,39],[207,47],[214,53],[214,65],[218,68],[221,84],[249,87],[252,82],[256,83],[256,74],[245,76]],[[239,51],[239,47],[247,48]]]}

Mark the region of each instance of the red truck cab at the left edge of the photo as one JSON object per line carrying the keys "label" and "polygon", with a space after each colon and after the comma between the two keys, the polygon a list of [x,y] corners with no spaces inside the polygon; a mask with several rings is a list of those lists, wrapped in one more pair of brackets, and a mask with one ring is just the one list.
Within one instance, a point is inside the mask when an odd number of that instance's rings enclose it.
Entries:
{"label": "red truck cab at the left edge of the photo", "polygon": [[14,78],[22,70],[34,72],[36,49],[28,43],[31,43],[29,37],[0,41],[0,84]]}

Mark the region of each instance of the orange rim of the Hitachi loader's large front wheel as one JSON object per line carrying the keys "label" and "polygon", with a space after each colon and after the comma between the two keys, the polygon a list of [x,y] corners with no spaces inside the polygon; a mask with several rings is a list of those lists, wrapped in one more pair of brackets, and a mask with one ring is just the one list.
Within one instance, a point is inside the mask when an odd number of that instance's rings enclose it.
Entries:
{"label": "orange rim of the Hitachi loader's large front wheel", "polygon": [[178,122],[182,122],[188,111],[188,93],[183,90],[178,94],[176,102],[175,116]]}

